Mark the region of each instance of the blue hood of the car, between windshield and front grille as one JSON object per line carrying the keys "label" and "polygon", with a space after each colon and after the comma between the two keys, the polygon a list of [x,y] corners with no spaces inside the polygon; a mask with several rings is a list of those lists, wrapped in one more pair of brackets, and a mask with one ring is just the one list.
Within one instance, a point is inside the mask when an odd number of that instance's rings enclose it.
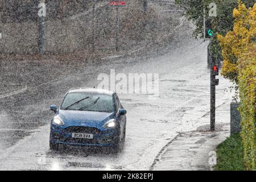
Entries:
{"label": "blue hood of the car, between windshield and front grille", "polygon": [[101,113],[94,111],[60,110],[59,117],[65,126],[101,127],[106,121],[114,118],[114,113]]}

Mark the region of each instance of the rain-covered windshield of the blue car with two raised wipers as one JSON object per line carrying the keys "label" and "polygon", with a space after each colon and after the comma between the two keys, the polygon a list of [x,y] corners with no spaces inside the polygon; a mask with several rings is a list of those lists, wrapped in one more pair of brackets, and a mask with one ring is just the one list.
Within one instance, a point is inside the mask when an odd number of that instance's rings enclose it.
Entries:
{"label": "rain-covered windshield of the blue car with two raised wipers", "polygon": [[[85,100],[82,100],[86,97],[88,98]],[[72,105],[77,101],[80,101],[80,102],[75,105]],[[114,103],[113,97],[108,94],[80,93],[80,92],[68,93],[67,96],[64,98],[64,101],[61,104],[60,109],[61,110],[80,110],[82,107],[85,107],[85,109],[82,109],[83,111],[113,113],[114,111],[113,103]]]}

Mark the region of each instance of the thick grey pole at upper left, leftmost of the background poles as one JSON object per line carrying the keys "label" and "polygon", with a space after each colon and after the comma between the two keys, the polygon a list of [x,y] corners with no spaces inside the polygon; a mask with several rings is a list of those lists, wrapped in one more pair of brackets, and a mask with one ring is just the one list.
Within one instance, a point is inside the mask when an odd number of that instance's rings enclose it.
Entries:
{"label": "thick grey pole at upper left, leftmost of the background poles", "polygon": [[46,35],[46,0],[40,0],[39,11],[39,55],[44,54],[44,39]]}

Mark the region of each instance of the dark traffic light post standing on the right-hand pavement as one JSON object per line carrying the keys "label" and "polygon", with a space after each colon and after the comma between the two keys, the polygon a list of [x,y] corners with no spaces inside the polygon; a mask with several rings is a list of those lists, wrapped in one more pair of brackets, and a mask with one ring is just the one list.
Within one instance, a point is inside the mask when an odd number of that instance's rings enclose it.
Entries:
{"label": "dark traffic light post standing on the right-hand pavement", "polygon": [[214,84],[215,75],[213,72],[214,60],[210,60],[210,131],[215,130],[215,100],[216,85]]}

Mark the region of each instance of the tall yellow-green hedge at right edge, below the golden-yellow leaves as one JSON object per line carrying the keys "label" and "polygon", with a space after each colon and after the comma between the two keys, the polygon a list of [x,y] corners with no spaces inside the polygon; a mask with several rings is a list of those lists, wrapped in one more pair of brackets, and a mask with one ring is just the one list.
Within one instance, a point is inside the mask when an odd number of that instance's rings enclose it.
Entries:
{"label": "tall yellow-green hedge at right edge, below the golden-yellow leaves", "polygon": [[238,76],[240,89],[241,137],[243,158],[247,170],[255,170],[256,140],[255,140],[255,113],[256,113],[256,60],[242,68]]}

